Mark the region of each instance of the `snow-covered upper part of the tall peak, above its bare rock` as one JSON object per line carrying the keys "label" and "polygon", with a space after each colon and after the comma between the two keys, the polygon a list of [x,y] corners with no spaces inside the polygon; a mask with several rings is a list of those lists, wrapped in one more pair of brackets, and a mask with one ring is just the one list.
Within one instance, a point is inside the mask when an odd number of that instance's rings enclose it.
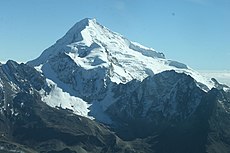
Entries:
{"label": "snow-covered upper part of the tall peak, above its bare rock", "polygon": [[65,36],[28,64],[41,66],[60,54],[65,54],[84,69],[101,67],[116,83],[143,80],[165,70],[176,70],[191,75],[197,82],[207,86],[204,90],[214,86],[213,82],[185,64],[165,59],[163,53],[129,41],[100,25],[96,19],[86,18],[76,23]]}

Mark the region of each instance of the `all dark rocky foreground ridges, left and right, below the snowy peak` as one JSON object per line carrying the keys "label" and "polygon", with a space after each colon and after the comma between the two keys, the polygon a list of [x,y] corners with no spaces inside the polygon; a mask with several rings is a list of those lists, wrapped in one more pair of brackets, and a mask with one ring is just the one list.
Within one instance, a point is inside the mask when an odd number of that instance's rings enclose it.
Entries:
{"label": "all dark rocky foreground ridges, left and right, below the snowy peak", "polygon": [[204,92],[188,75],[166,71],[114,86],[110,127],[49,107],[41,89],[50,91],[34,68],[0,66],[0,152],[230,152],[230,92]]}

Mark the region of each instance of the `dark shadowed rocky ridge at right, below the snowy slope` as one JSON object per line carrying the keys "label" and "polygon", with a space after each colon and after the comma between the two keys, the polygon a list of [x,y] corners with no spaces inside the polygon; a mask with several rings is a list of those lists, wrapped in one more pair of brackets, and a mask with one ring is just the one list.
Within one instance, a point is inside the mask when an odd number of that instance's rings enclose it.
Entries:
{"label": "dark shadowed rocky ridge at right, below the snowy slope", "polygon": [[148,139],[159,153],[230,151],[229,92],[206,93],[190,76],[174,71],[132,81],[116,91],[120,98],[107,113],[124,140]]}

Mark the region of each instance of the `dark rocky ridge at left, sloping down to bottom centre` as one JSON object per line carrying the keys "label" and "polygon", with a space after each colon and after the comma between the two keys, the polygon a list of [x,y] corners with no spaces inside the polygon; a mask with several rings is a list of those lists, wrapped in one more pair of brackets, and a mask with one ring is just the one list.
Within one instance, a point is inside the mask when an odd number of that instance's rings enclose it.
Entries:
{"label": "dark rocky ridge at left, sloping down to bottom centre", "polygon": [[147,144],[138,147],[124,142],[102,124],[46,105],[38,90],[49,87],[34,68],[10,61],[0,67],[0,72],[0,152],[12,149],[67,153],[149,150]]}

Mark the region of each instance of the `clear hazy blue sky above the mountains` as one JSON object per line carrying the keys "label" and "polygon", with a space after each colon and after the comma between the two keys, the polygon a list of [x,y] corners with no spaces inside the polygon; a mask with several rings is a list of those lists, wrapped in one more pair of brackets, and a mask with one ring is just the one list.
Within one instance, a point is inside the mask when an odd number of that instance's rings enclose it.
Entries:
{"label": "clear hazy blue sky above the mountains", "polygon": [[0,61],[28,61],[90,17],[194,69],[230,70],[230,0],[1,0]]}

